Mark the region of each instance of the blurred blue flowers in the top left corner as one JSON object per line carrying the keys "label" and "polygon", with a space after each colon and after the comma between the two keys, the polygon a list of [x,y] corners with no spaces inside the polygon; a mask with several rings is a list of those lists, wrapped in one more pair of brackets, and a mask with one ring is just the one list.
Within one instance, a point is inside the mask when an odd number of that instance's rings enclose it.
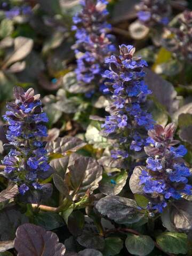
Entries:
{"label": "blurred blue flowers in the top left corner", "polygon": [[10,20],[19,15],[30,15],[32,13],[29,5],[14,6],[10,9],[9,4],[6,2],[1,4],[1,9],[5,12],[6,18]]}

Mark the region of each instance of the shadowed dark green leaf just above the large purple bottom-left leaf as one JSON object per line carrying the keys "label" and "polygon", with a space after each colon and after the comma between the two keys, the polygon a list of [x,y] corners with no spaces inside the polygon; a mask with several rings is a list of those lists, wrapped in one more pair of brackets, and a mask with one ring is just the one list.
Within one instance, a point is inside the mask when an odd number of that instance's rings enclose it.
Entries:
{"label": "shadowed dark green leaf just above the large purple bottom-left leaf", "polygon": [[35,217],[35,224],[46,230],[53,230],[63,226],[64,222],[58,213],[42,212]]}

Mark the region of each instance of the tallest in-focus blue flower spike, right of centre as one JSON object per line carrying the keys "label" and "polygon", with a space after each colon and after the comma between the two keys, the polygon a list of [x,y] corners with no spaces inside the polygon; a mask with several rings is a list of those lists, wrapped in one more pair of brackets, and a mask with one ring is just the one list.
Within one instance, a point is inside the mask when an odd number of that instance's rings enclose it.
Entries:
{"label": "tallest in-focus blue flower spike, right of centre", "polygon": [[146,110],[146,98],[151,92],[143,78],[143,67],[147,62],[133,57],[135,48],[132,45],[120,45],[120,55],[111,55],[106,59],[110,70],[103,73],[110,92],[111,104],[107,108],[109,116],[102,125],[105,135],[117,139],[111,151],[113,158],[127,158],[129,151],[141,151],[146,144],[147,131],[153,129],[154,121]]}

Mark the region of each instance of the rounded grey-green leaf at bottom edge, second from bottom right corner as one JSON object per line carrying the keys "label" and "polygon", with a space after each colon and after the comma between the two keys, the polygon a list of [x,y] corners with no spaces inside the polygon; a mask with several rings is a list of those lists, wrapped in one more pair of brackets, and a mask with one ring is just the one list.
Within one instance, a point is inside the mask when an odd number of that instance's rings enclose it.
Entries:
{"label": "rounded grey-green leaf at bottom edge, second from bottom right corner", "polygon": [[150,236],[128,234],[125,246],[133,255],[146,256],[154,249],[154,241]]}

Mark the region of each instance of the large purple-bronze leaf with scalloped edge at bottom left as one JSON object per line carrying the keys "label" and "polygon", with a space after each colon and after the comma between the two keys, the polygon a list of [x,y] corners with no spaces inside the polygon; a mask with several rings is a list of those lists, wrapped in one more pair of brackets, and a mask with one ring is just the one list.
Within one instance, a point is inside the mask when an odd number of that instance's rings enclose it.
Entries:
{"label": "large purple-bronze leaf with scalloped edge at bottom left", "polygon": [[55,233],[29,223],[17,229],[14,247],[18,256],[62,256],[66,251]]}

